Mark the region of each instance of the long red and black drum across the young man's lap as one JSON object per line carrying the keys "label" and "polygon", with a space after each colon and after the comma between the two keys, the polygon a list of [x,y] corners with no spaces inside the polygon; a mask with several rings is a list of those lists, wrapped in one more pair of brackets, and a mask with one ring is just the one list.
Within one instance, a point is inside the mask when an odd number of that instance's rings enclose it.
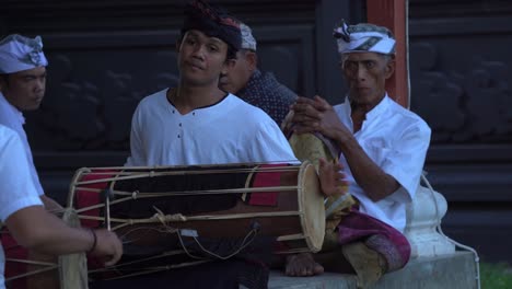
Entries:
{"label": "long red and black drum across the young man's lap", "polygon": [[[108,205],[105,194],[110,195]],[[246,199],[257,197],[259,203],[271,195],[274,201],[252,205],[258,201],[243,201],[244,195]],[[264,235],[296,240],[295,243],[302,240],[304,251],[317,252],[325,228],[318,180],[309,163],[84,167],[73,177],[68,203],[86,227],[120,230],[125,238],[139,244],[153,241],[148,235],[147,240],[131,239],[128,228],[165,223],[174,229],[195,230],[205,238],[243,238],[257,223]],[[219,209],[209,208],[210,203],[218,204]]]}

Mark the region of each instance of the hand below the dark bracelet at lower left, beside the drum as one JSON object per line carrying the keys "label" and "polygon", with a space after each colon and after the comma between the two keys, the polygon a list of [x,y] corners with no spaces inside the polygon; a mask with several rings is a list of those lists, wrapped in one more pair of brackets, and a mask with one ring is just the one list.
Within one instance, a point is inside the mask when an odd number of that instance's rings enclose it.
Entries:
{"label": "hand below the dark bracelet at lower left, beside the drum", "polygon": [[123,255],[123,244],[116,233],[105,229],[94,230],[96,244],[91,251],[93,256],[104,262],[105,266],[116,264]]}

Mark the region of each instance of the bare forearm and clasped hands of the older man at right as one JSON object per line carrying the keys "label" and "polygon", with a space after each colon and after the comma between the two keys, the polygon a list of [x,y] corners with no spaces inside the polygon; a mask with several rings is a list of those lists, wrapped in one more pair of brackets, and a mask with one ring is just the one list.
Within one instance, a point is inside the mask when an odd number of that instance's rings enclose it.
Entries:
{"label": "bare forearm and clasped hands of the older man at right", "polygon": [[338,115],[325,100],[300,97],[292,106],[294,131],[298,134],[318,131],[333,139],[341,149],[356,182],[373,201],[379,201],[394,192],[400,184],[379,167],[359,146],[352,132],[339,120]]}

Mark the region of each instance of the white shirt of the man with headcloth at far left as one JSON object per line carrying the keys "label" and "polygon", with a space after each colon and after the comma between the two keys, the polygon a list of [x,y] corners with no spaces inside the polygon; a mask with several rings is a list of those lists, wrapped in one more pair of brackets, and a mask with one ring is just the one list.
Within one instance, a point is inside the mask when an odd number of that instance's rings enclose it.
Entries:
{"label": "white shirt of the man with headcloth at far left", "polygon": [[34,160],[32,158],[31,146],[28,144],[28,139],[26,137],[23,125],[25,124],[25,117],[23,113],[20,112],[16,107],[5,100],[5,96],[0,92],[0,125],[4,125],[12,130],[16,131],[21,141],[23,142],[23,148],[28,160],[28,169],[31,171],[31,178],[34,183],[34,186],[37,189],[37,194],[44,195],[43,186],[39,182],[39,176],[37,175],[36,167],[34,165]]}

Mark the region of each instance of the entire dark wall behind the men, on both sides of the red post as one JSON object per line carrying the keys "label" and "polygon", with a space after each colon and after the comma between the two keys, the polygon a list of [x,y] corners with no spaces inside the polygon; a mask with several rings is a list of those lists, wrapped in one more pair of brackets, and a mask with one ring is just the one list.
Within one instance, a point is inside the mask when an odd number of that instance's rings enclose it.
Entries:
{"label": "entire dark wall behind the men, on both sides of the red post", "polygon": [[[333,104],[345,86],[335,22],[358,0],[222,0],[258,39],[260,68]],[[82,166],[123,165],[139,100],[174,85],[184,0],[0,0],[0,35],[42,35],[46,99],[26,130],[48,195]],[[409,0],[410,108],[432,127],[426,171],[449,201],[443,230],[512,263],[512,2]]]}

